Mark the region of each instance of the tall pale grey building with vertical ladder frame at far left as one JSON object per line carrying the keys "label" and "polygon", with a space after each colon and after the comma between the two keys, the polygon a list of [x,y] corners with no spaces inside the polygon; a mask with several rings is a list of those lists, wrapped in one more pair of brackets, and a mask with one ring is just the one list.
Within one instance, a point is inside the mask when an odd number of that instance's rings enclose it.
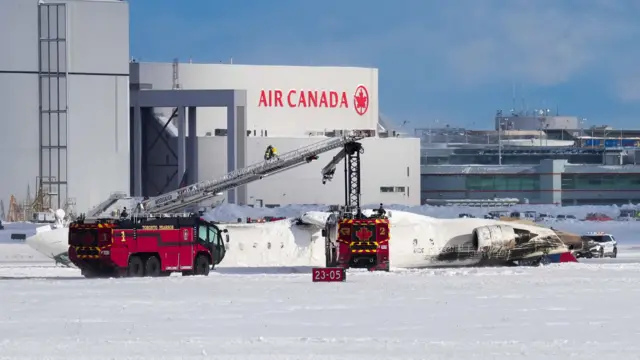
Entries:
{"label": "tall pale grey building with vertical ladder frame at far left", "polygon": [[0,1],[5,204],[27,185],[33,198],[37,177],[53,207],[78,211],[128,191],[128,24],[122,1]]}

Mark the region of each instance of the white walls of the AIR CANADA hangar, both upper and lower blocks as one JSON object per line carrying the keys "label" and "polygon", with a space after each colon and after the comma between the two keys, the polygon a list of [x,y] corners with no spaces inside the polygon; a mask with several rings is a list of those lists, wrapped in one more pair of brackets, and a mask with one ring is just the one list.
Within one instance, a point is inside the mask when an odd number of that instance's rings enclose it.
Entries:
{"label": "white walls of the AIR CANADA hangar, both upper and lower blocks", "polygon": [[[310,136],[336,129],[377,130],[378,71],[371,68],[262,66],[237,64],[136,63],[132,83],[169,90],[237,89],[247,91],[247,164],[261,162],[271,144],[279,153],[325,139]],[[302,95],[301,95],[302,94]],[[168,118],[174,109],[154,109]],[[227,173],[224,108],[198,108],[198,180]],[[188,132],[188,129],[187,129]],[[175,138],[169,140],[176,143]],[[420,204],[419,139],[373,138],[363,141],[362,202]],[[173,146],[173,145],[172,145]],[[321,168],[337,153],[247,185],[249,204],[342,203],[344,173],[322,185]],[[148,163],[171,163],[169,151],[154,150]],[[340,166],[343,166],[342,164]],[[174,188],[175,168],[149,168],[152,194]],[[151,181],[151,180],[150,180]],[[166,184],[170,184],[167,186]]]}

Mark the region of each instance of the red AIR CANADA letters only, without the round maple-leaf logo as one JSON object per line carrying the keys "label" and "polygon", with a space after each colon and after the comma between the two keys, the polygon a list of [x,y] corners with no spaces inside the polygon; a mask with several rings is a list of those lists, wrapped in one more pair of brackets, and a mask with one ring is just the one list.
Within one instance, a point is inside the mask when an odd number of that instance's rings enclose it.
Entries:
{"label": "red AIR CANADA letters only, without the round maple-leaf logo", "polygon": [[[349,108],[346,92],[295,90],[286,94],[287,107],[310,108]],[[260,90],[259,107],[284,107],[284,93],[282,90]]]}

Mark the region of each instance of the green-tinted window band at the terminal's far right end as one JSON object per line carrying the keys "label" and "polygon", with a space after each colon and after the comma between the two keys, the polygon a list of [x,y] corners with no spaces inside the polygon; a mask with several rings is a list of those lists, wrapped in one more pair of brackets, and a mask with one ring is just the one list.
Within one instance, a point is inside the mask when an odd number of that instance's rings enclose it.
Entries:
{"label": "green-tinted window band at the terminal's far right end", "polygon": [[640,174],[562,174],[562,190],[640,190]]}

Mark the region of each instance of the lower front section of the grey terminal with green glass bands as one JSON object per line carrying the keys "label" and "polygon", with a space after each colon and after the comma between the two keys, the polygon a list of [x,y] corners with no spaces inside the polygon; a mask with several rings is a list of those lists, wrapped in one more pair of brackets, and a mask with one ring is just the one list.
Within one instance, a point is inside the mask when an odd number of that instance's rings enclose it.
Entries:
{"label": "lower front section of the grey terminal with green glass bands", "polygon": [[440,165],[422,169],[423,202],[517,198],[530,204],[640,203],[640,166],[569,164]]}

